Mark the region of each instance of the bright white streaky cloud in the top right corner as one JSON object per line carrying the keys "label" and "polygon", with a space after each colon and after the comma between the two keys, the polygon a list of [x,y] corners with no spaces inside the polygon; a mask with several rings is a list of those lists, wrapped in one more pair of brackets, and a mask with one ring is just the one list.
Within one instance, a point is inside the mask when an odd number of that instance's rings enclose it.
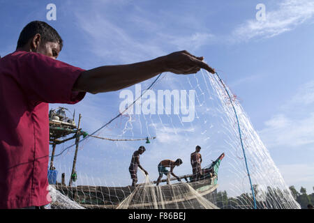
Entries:
{"label": "bright white streaky cloud in the top right corner", "polygon": [[266,20],[248,20],[233,31],[237,40],[251,38],[271,38],[294,29],[299,24],[313,18],[313,0],[285,0],[278,4],[278,9],[268,10],[266,6]]}

